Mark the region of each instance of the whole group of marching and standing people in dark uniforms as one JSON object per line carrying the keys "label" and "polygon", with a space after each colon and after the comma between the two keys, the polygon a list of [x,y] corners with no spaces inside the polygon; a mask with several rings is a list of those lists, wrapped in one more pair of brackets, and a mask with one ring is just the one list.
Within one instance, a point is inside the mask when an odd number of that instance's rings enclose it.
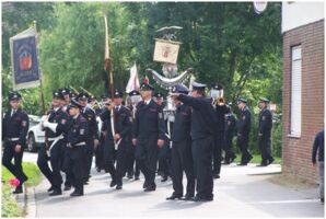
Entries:
{"label": "whole group of marching and standing people in dark uniforms", "polygon": [[[248,151],[251,112],[247,101],[240,97],[241,115],[236,120],[228,104],[216,103],[213,97],[206,95],[206,84],[193,82],[191,85],[189,91],[184,84],[176,84],[170,93],[175,106],[173,120],[164,112],[163,94],[154,95],[154,88],[145,82],[140,93],[129,93],[127,103],[119,90],[103,94],[101,107],[95,111],[90,106],[94,100],[89,93],[73,94],[66,88],[54,91],[53,108],[42,119],[45,146],[39,149],[37,159],[37,165],[50,184],[49,195],[61,195],[63,186],[63,191],[74,188],[71,196],[82,196],[95,154],[97,172],[109,173],[109,186],[116,189],[123,188],[124,176],[137,181],[141,172],[143,191],[153,192],[158,173],[162,182],[168,176],[172,178],[174,192],[166,199],[213,200],[213,178],[220,177],[222,160],[230,164],[236,158],[232,148],[235,135],[242,153],[240,165],[246,165],[253,158]],[[211,90],[221,89],[220,84],[211,87]],[[18,92],[12,92],[9,101],[11,108],[2,119],[2,163],[21,183],[14,193],[22,193],[22,185],[27,181],[22,157],[28,116],[19,107],[21,95]],[[273,162],[268,102],[263,97],[258,103],[261,110],[260,166]],[[185,193],[184,173],[187,178]]]}

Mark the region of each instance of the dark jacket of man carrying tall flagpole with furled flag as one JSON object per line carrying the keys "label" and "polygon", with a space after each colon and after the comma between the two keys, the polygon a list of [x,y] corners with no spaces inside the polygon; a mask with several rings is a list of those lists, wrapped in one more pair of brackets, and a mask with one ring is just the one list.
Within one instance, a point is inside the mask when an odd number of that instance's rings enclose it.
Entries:
{"label": "dark jacket of man carrying tall flagpole with furled flag", "polygon": [[[114,110],[115,111],[115,110]],[[100,115],[103,123],[105,123],[104,127],[106,129],[106,135],[109,139],[113,139],[112,135],[112,125],[110,125],[110,111],[105,110]],[[120,106],[119,111],[115,111],[114,113],[114,128],[115,134],[119,134],[123,139],[130,139],[132,127],[132,117],[129,108],[126,106]]]}

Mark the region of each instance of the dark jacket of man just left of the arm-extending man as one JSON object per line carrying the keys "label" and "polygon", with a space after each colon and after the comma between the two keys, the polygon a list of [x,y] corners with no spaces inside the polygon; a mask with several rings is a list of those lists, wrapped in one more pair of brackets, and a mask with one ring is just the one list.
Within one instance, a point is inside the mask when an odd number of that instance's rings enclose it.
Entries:
{"label": "dark jacket of man just left of the arm-extending man", "polygon": [[186,104],[178,105],[175,112],[172,141],[179,142],[190,139],[191,108]]}

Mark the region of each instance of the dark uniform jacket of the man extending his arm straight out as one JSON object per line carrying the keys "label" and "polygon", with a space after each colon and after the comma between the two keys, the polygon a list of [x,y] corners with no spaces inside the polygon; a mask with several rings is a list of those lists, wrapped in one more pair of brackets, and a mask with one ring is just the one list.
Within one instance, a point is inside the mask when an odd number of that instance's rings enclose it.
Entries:
{"label": "dark uniform jacket of the man extending his arm straight out", "polygon": [[179,100],[193,107],[191,113],[191,139],[207,138],[217,132],[217,117],[211,99],[191,97],[185,94]]}

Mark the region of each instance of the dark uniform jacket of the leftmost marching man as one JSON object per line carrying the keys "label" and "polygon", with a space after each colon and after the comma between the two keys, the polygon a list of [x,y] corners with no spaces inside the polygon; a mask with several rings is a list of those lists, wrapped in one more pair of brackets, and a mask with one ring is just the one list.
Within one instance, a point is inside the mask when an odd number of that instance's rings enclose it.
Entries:
{"label": "dark uniform jacket of the leftmost marching man", "polygon": [[10,110],[4,114],[2,119],[2,140],[7,138],[19,138],[18,145],[25,145],[28,127],[30,118],[24,111],[19,108],[11,116]]}

